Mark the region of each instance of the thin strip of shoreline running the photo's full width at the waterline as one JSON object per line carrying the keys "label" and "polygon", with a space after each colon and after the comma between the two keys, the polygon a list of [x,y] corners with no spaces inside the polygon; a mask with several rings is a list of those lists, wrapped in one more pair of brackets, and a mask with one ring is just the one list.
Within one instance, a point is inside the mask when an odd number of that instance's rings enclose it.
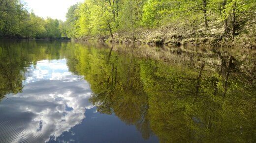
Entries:
{"label": "thin strip of shoreline running the photo's full width at the waterline", "polygon": [[[238,35],[234,38],[224,37],[219,39],[215,37],[190,37],[179,34],[172,35],[157,35],[157,32],[148,34],[147,30],[143,31],[140,36],[137,36],[135,42],[131,38],[124,37],[122,33],[115,33],[114,39],[111,36],[105,36],[104,38],[95,38],[91,36],[75,38],[75,39],[24,39],[24,38],[0,38],[1,40],[38,40],[38,41],[100,41],[106,43],[120,43],[120,44],[146,44],[152,46],[205,46],[205,47],[235,47],[235,48],[256,48],[256,37],[248,37]],[[155,33],[155,34],[154,34]],[[155,35],[155,36],[152,36]]]}

